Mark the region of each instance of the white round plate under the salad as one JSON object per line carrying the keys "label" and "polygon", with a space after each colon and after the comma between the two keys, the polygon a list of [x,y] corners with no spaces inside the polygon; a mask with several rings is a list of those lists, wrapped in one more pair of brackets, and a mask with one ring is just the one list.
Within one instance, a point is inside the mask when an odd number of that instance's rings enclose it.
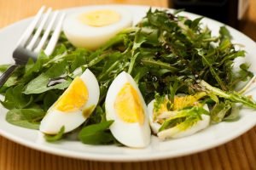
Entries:
{"label": "white round plate under the salad", "polygon": [[[65,11],[72,13],[84,8],[95,7],[68,8]],[[145,6],[119,6],[119,8],[130,10],[135,22],[140,20],[148,10],[148,7]],[[192,19],[198,17],[198,15],[189,13],[183,13],[183,15],[189,16]],[[0,64],[9,63],[12,51],[15,48],[15,42],[17,42],[30,20],[21,20],[0,31]],[[219,26],[223,26],[223,24],[210,19],[204,19],[203,22],[210,27],[214,34],[218,33]],[[255,42],[235,29],[229,27],[229,30],[234,37],[234,42],[245,45],[247,51],[246,60],[251,63],[254,69],[253,72],[256,72],[256,63],[253,59],[256,56]],[[251,90],[249,94],[256,96],[256,90]],[[245,133],[256,124],[256,111],[242,109],[240,112],[241,119],[237,122],[221,122],[218,125],[208,127],[200,133],[195,133],[195,135],[183,139],[171,139],[165,142],[161,142],[152,136],[151,144],[147,148],[131,149],[114,145],[87,145],[76,141],[61,141],[55,144],[46,143],[37,130],[16,127],[6,122],[6,110],[3,107],[0,109],[0,134],[4,137],[33,149],[55,155],[97,161],[146,161],[185,156],[224,144]]]}

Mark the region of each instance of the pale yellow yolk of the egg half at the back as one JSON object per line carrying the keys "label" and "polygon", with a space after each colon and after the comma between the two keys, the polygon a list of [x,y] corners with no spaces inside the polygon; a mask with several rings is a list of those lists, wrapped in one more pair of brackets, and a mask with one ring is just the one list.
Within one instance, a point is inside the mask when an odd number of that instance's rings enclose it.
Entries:
{"label": "pale yellow yolk of the egg half at the back", "polygon": [[79,20],[88,26],[108,26],[120,20],[120,14],[109,9],[102,9],[84,13],[79,16]]}

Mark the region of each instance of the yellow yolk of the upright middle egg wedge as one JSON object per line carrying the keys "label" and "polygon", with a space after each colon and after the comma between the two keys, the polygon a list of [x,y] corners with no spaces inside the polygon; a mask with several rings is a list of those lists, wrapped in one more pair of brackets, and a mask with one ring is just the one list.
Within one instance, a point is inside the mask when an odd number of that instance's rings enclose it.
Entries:
{"label": "yellow yolk of the upright middle egg wedge", "polygon": [[144,111],[141,99],[130,83],[125,83],[114,101],[114,109],[124,122],[144,122]]}

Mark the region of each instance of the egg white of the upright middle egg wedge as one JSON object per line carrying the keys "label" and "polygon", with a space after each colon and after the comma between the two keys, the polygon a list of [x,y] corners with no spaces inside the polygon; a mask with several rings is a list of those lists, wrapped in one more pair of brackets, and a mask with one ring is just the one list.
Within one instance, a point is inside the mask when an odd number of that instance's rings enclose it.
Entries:
{"label": "egg white of the upright middle egg wedge", "polygon": [[[114,109],[114,101],[121,88],[123,88],[127,82],[136,89],[139,99],[141,100],[144,112],[143,125],[140,125],[139,122],[131,123],[122,121]],[[137,83],[134,82],[133,78],[125,71],[121,72],[108,88],[105,108],[107,120],[114,121],[110,126],[110,131],[120,143],[130,147],[145,147],[150,143],[151,131],[148,122],[147,106],[144,102],[143,95],[140,93],[139,88],[137,88]]]}

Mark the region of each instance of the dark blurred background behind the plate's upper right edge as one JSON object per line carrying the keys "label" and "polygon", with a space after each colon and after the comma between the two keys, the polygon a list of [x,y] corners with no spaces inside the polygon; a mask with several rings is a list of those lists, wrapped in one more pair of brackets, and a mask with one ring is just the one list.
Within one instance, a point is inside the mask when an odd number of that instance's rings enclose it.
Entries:
{"label": "dark blurred background behind the plate's upper right edge", "polygon": [[168,0],[171,8],[201,14],[246,33],[256,41],[255,0]]}

